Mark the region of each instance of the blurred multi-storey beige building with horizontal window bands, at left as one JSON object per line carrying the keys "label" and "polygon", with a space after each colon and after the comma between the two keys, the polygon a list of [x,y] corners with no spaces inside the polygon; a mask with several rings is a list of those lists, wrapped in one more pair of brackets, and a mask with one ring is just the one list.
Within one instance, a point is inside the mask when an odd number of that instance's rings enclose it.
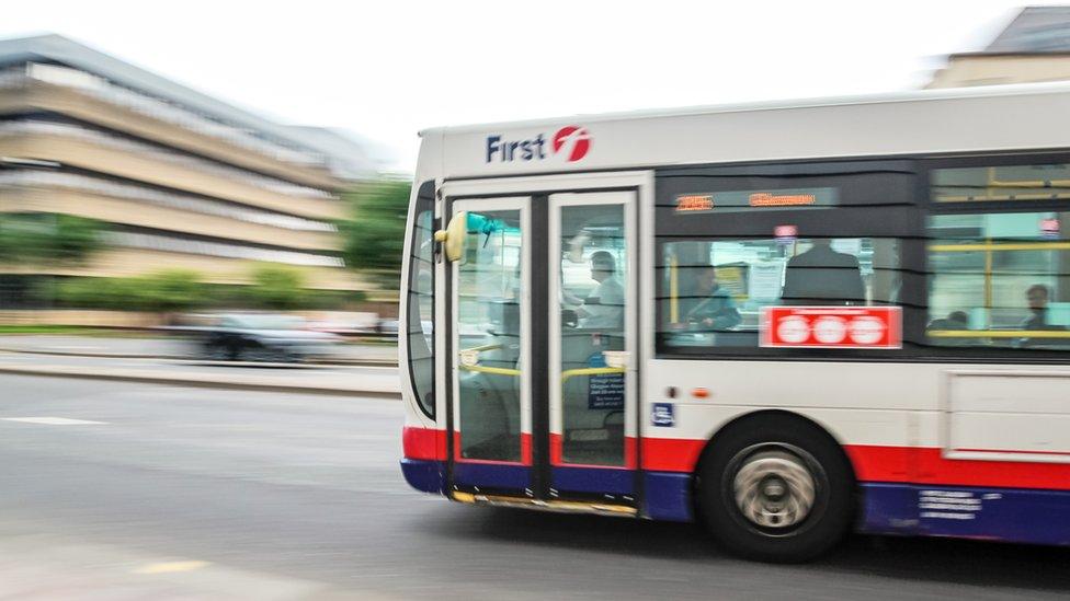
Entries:
{"label": "blurred multi-storey beige building with horizontal window bands, at left", "polygon": [[0,211],[109,224],[84,266],[2,273],[187,268],[243,284],[271,262],[312,288],[367,289],[343,268],[332,220],[346,181],[374,169],[344,135],[273,123],[65,37],[0,41]]}

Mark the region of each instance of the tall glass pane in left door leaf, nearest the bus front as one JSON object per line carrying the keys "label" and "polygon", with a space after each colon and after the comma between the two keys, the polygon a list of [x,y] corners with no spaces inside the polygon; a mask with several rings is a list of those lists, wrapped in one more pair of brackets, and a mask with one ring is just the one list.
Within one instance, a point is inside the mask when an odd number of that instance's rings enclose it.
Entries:
{"label": "tall glass pane in left door leaf, nearest the bus front", "polygon": [[460,460],[521,462],[523,234],[520,210],[468,212],[457,262]]}

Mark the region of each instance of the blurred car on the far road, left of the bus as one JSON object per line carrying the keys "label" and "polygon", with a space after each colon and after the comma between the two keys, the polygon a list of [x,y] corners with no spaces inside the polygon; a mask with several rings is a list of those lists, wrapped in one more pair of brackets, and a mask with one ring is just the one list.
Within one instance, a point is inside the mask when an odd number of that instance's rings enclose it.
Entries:
{"label": "blurred car on the far road, left of the bus", "polygon": [[296,315],[221,315],[213,326],[198,328],[206,357],[217,360],[303,361],[331,355],[341,338],[308,328]]}

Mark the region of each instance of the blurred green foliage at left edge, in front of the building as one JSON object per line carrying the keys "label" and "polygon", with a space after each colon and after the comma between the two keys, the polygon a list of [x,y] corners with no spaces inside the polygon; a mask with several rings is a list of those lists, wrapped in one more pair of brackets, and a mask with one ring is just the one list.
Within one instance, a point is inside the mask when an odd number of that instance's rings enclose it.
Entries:
{"label": "blurred green foliage at left edge, in front of the building", "polygon": [[0,263],[79,264],[104,243],[102,222],[62,213],[0,216]]}

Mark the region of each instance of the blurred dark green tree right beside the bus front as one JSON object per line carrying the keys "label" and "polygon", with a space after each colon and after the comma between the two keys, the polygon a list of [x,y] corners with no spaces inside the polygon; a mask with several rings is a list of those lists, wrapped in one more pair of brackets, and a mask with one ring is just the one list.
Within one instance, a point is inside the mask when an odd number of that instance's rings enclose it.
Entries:
{"label": "blurred dark green tree right beside the bus front", "polygon": [[339,223],[344,236],[342,257],[389,289],[400,285],[410,189],[409,182],[384,180],[343,195],[350,218]]}

